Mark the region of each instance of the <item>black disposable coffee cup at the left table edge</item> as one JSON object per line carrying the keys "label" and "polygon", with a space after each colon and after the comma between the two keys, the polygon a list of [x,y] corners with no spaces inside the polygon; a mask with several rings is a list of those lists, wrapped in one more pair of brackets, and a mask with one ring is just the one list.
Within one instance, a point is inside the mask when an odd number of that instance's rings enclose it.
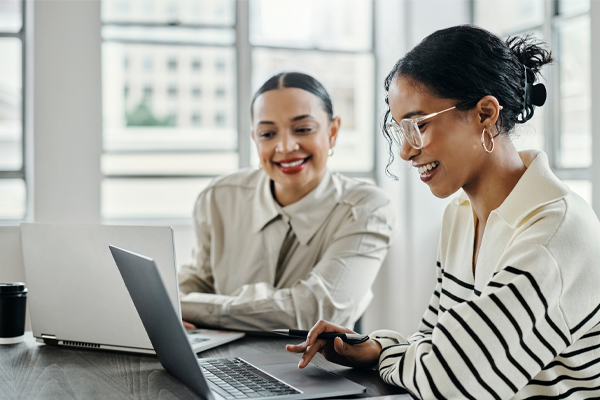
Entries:
{"label": "black disposable coffee cup at the left table edge", "polygon": [[0,344],[25,339],[27,288],[22,282],[0,283]]}

